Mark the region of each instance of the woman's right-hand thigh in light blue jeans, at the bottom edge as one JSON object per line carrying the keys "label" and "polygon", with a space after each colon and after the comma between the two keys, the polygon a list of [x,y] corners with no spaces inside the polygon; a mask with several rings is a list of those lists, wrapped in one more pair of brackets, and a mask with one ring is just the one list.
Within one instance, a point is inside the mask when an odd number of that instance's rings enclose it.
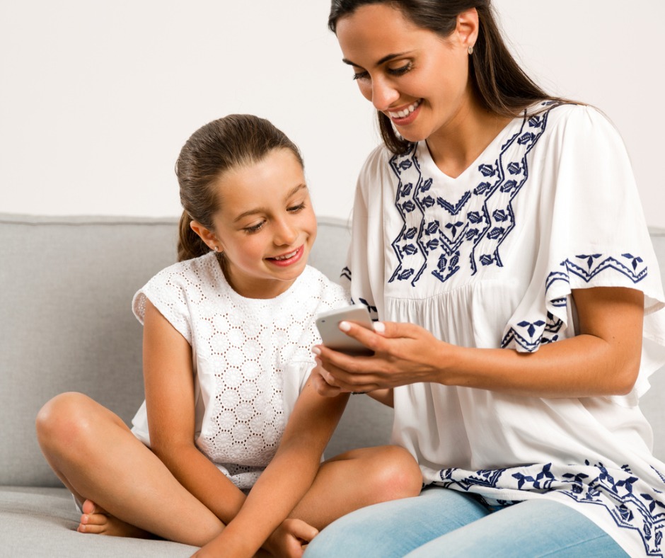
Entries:
{"label": "woman's right-hand thigh in light blue jeans, at the bottom edge", "polygon": [[[407,528],[408,520],[405,519]],[[527,500],[434,539],[409,558],[625,557],[605,531],[578,511],[550,500]]]}

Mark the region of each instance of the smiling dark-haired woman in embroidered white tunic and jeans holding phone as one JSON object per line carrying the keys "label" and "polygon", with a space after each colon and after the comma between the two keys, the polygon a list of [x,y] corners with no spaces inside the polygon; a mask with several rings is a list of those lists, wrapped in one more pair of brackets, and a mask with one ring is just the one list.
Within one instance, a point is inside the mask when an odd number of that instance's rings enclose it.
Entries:
{"label": "smiling dark-haired woman in embroidered white tunic and jeans holding phone", "polygon": [[352,297],[375,351],[317,346],[318,390],[394,404],[421,496],[307,555],[661,556],[665,465],[638,399],[665,297],[618,132],[521,71],[489,0],[333,0],[384,146],[359,177]]}

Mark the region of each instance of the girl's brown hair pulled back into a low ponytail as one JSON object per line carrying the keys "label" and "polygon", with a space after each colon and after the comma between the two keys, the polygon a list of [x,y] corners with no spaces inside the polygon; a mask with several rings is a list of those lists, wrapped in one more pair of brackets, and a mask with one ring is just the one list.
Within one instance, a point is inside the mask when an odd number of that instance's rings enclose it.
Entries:
{"label": "girl's brown hair pulled back into a low ponytail", "polygon": [[199,128],[180,150],[175,174],[180,184],[180,238],[178,261],[197,258],[210,249],[192,231],[197,221],[214,231],[213,217],[220,207],[219,178],[233,169],[256,164],[274,149],[289,149],[301,166],[303,158],[294,142],[264,118],[231,114]]}

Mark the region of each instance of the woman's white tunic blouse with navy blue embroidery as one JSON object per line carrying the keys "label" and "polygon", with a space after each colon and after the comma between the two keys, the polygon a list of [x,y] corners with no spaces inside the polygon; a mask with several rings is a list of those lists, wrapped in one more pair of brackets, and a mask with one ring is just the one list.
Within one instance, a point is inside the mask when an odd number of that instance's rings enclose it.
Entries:
{"label": "woman's white tunic blouse with navy blue embroidery", "polygon": [[393,441],[427,483],[491,502],[546,494],[629,554],[661,555],[665,465],[637,401],[665,363],[665,297],[628,155],[603,115],[543,103],[458,178],[425,142],[403,156],[379,147],[359,177],[345,274],[352,299],[378,319],[520,352],[575,335],[572,289],[642,290],[642,366],[628,396],[408,385],[395,389]]}

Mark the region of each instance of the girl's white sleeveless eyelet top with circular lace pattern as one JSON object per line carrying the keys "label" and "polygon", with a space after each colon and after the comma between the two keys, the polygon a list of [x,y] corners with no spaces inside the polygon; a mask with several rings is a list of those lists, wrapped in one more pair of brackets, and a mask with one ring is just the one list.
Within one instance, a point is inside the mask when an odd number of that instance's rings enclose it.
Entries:
{"label": "girl's white sleeveless eyelet top with circular lace pattern", "polygon": [[[197,447],[238,488],[250,488],[313,368],[315,315],[348,304],[347,292],[308,266],[278,297],[241,297],[211,253],[166,268],[137,292],[141,324],[146,299],[192,346]],[[132,424],[150,445],[145,402]]]}

